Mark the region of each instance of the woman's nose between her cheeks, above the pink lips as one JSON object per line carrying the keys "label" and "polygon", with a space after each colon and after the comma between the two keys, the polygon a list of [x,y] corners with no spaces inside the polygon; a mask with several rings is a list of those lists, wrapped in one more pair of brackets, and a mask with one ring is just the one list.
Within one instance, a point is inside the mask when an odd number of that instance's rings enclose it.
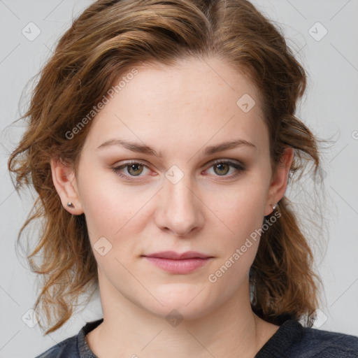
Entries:
{"label": "woman's nose between her cheeks, above the pink lips", "polygon": [[155,213],[157,227],[177,236],[188,236],[203,227],[203,203],[191,184],[186,176],[176,184],[164,180]]}

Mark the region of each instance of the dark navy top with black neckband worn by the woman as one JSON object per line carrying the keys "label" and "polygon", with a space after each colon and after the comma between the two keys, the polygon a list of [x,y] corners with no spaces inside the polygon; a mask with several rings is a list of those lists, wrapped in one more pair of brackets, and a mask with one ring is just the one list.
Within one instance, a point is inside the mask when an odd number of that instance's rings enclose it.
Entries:
{"label": "dark navy top with black neckband worn by the woman", "polygon": [[[36,358],[98,358],[85,336],[103,322],[88,322],[78,333]],[[303,327],[287,320],[257,352],[255,358],[358,358],[358,337]]]}

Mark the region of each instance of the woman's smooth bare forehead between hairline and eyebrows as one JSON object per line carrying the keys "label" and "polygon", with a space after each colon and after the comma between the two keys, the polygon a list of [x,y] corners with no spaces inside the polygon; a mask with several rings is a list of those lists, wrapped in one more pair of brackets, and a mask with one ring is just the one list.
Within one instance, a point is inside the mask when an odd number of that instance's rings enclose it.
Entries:
{"label": "woman's smooth bare forehead between hairline and eyebrows", "polygon": [[100,145],[117,135],[155,148],[169,139],[181,146],[192,141],[214,144],[228,136],[267,142],[259,92],[221,59],[135,69],[135,76],[122,73],[115,80],[114,85],[121,82],[120,90],[96,116],[86,141]]}

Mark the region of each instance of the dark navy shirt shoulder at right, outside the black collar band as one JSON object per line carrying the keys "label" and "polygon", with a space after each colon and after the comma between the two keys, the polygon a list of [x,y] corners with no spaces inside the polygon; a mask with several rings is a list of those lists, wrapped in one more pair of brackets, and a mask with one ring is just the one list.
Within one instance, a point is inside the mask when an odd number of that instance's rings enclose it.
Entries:
{"label": "dark navy shirt shoulder at right, outside the black collar band", "polygon": [[289,352],[297,358],[357,358],[358,337],[303,327],[301,339]]}

